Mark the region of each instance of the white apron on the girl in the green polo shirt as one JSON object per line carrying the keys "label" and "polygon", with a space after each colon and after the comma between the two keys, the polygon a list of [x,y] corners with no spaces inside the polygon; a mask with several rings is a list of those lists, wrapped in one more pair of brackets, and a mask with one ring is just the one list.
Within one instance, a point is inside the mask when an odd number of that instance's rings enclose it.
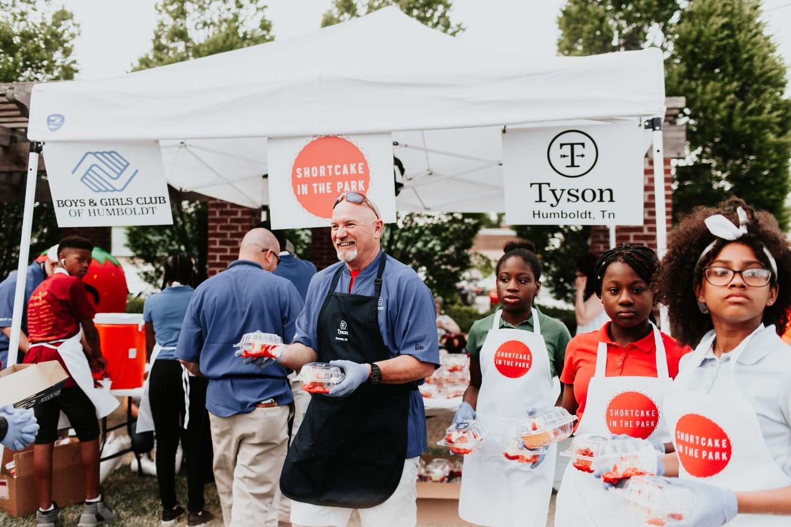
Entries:
{"label": "white apron on the girl in the green polo shirt", "polygon": [[483,380],[476,414],[489,435],[478,452],[464,459],[459,516],[479,525],[544,527],[557,445],[551,445],[534,470],[505,459],[496,438],[516,434],[517,420],[526,417],[526,409],[554,405],[547,344],[536,309],[533,332],[500,329],[500,317],[500,311],[495,313],[479,358]]}

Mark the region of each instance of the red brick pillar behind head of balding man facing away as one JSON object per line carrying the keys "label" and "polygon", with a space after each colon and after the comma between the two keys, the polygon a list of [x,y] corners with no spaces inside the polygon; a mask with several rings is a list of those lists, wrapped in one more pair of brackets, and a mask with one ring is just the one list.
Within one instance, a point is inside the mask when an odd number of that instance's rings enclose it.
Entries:
{"label": "red brick pillar behind head of balding man facing away", "polygon": [[209,207],[209,276],[237,260],[244,234],[261,220],[261,211],[220,199],[210,199]]}

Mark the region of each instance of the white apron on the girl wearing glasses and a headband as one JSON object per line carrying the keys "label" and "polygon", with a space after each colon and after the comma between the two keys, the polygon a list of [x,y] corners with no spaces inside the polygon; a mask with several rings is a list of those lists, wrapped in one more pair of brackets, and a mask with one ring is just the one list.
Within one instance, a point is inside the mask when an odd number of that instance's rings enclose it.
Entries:
{"label": "white apron on the girl wearing glasses and a headband", "polygon": [[[761,427],[750,401],[741,395],[737,368],[748,368],[737,362],[752,337],[761,331],[774,331],[763,324],[730,352],[730,397],[713,397],[687,389],[687,382],[711,349],[714,332],[706,334],[695,348],[690,362],[676,377],[664,398],[664,411],[673,433],[673,444],[679,455],[679,478],[701,479],[733,491],[761,491],[791,485],[789,476],[774,462],[761,433]],[[782,373],[782,372],[778,372]],[[698,438],[713,440],[712,446],[700,445]],[[697,444],[696,444],[697,443]],[[692,472],[692,473],[691,473]],[[788,516],[739,514],[728,525],[768,527],[791,525]]]}

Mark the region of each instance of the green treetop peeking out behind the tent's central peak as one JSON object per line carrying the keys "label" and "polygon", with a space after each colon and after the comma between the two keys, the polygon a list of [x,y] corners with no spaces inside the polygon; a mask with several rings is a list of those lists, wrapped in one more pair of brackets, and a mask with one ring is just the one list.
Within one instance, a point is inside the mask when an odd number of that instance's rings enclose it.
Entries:
{"label": "green treetop peeking out behind the tent's central peak", "polygon": [[451,0],[333,0],[331,9],[321,19],[321,27],[361,17],[386,6],[397,6],[423,25],[456,35],[464,28],[450,20],[451,5]]}

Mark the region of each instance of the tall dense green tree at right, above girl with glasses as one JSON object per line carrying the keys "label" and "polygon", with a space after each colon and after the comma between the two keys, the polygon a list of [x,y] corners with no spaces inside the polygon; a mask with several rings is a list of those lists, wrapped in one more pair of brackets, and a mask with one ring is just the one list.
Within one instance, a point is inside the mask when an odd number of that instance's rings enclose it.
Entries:
{"label": "tall dense green tree at right, above girl with glasses", "polygon": [[691,162],[676,168],[676,214],[738,195],[786,226],[791,100],[758,0],[691,2],[675,27],[668,93],[687,97]]}

